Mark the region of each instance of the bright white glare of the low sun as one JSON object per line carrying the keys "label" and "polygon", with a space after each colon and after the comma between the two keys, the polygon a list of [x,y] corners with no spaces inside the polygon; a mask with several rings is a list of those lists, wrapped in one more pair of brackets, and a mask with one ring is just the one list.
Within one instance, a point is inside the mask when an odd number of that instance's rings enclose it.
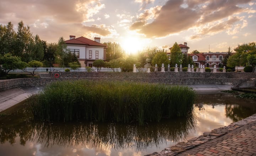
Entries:
{"label": "bright white glare of the low sun", "polygon": [[126,37],[123,39],[121,46],[126,51],[126,54],[136,54],[144,48],[144,42],[140,38]]}

